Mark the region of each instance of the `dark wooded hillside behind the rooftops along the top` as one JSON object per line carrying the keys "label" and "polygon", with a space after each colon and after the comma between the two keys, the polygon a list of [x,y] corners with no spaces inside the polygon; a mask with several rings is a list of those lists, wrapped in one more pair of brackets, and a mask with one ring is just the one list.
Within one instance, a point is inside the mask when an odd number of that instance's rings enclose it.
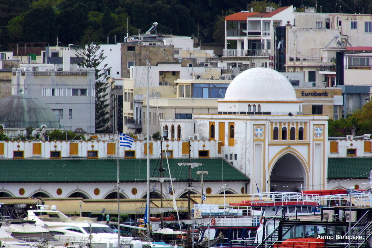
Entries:
{"label": "dark wooded hillside behind the rooftops along the top", "polygon": [[[0,0],[0,51],[8,42],[77,44],[89,26],[99,40],[124,41],[126,33],[146,32],[158,22],[158,32],[198,36],[201,42],[222,42],[223,17],[266,6],[315,6],[314,0]],[[364,6],[363,6],[364,5]],[[372,1],[317,0],[318,11],[371,14]],[[354,7],[355,6],[355,7]],[[222,20],[222,22],[221,22]]]}

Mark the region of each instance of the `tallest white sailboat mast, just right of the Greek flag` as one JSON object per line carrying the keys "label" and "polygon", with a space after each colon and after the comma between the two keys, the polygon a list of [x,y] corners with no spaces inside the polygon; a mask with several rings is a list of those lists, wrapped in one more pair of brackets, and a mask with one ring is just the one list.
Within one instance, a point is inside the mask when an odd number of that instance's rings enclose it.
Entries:
{"label": "tallest white sailboat mast, just right of the Greek flag", "polygon": [[150,239],[150,61],[146,59],[147,64],[147,84],[146,84],[146,149],[147,149],[147,238]]}

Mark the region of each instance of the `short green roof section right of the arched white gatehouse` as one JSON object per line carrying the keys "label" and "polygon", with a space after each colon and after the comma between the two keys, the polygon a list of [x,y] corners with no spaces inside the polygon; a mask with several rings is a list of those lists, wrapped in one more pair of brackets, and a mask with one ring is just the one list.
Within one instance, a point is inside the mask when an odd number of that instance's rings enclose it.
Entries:
{"label": "short green roof section right of the arched white gatehouse", "polygon": [[328,179],[368,178],[371,157],[328,158]]}

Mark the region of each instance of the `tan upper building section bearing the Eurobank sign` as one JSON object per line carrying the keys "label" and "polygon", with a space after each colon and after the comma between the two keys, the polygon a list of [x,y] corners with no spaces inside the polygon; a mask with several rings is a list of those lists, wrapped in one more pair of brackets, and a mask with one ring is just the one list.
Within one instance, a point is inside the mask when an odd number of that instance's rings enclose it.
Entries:
{"label": "tan upper building section bearing the Eurobank sign", "polygon": [[304,115],[327,115],[329,119],[342,117],[342,89],[336,87],[295,87],[296,97],[302,101]]}

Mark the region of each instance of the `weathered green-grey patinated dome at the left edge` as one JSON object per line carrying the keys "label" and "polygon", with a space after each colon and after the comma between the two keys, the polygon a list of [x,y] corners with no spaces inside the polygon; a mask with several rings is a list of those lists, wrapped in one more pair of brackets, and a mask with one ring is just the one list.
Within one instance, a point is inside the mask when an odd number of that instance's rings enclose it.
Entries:
{"label": "weathered green-grey patinated dome at the left edge", "polygon": [[0,99],[0,124],[5,128],[60,128],[47,104],[33,96],[17,94]]}

